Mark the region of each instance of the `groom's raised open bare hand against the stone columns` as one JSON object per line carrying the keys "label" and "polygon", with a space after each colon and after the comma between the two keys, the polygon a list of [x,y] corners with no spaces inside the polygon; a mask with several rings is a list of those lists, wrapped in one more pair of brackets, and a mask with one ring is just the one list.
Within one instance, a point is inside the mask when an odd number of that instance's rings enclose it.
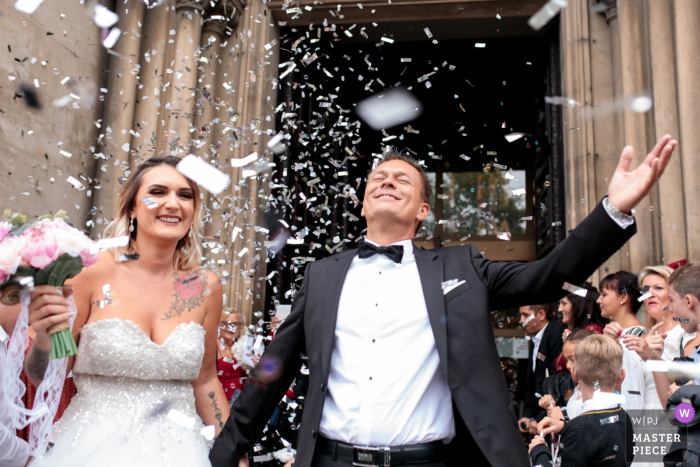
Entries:
{"label": "groom's raised open bare hand against the stone columns", "polygon": [[671,140],[670,135],[663,136],[644,162],[631,172],[628,172],[628,169],[634,157],[634,148],[625,146],[608,186],[608,202],[629,214],[664,172],[677,144],[678,141]]}

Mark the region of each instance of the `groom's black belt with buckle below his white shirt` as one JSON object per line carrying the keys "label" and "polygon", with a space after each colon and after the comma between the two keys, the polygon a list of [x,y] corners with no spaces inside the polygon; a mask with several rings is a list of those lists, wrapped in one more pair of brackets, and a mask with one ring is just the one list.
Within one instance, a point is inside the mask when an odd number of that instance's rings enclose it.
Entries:
{"label": "groom's black belt with buckle below his white shirt", "polygon": [[410,444],[406,446],[357,446],[318,437],[316,451],[333,459],[352,462],[362,467],[389,467],[392,465],[423,464],[444,460],[444,443]]}

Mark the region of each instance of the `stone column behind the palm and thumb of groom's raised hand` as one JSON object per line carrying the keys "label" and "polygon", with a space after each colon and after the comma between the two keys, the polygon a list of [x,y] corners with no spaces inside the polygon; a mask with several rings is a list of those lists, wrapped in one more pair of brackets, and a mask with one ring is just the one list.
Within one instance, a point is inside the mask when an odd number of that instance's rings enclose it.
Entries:
{"label": "stone column behind the palm and thumb of groom's raised hand", "polygon": [[[647,38],[643,29],[645,22],[642,0],[618,0],[617,12],[620,25],[622,95],[615,97],[649,95]],[[648,150],[651,149],[647,140],[650,130],[648,115],[649,113],[637,113],[631,109],[625,109],[623,112],[625,144],[634,147],[632,169],[644,161]],[[658,200],[657,190],[655,187],[653,193],[645,197],[635,210],[637,235],[629,241],[630,268],[633,273],[639,272],[644,266],[661,261],[659,238],[655,231],[657,223],[652,217],[652,210],[658,209],[655,203]]]}

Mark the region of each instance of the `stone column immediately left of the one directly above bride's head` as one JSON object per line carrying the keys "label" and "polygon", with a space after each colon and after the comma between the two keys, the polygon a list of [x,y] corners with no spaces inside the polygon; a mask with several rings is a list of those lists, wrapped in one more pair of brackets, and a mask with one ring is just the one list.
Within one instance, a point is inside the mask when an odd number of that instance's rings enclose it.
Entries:
{"label": "stone column immediately left of the one directly above bride's head", "polygon": [[142,66],[134,110],[134,132],[137,134],[131,138],[132,165],[155,155],[158,134],[163,132],[158,117],[171,7],[172,1],[155,6],[146,10],[144,17],[140,55]]}

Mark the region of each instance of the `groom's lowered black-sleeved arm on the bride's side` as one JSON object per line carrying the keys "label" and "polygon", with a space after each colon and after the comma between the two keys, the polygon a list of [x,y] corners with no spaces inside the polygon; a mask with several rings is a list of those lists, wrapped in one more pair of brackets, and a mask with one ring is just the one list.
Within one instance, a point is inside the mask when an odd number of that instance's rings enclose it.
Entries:
{"label": "groom's lowered black-sleeved arm on the bride's side", "polygon": [[282,396],[299,374],[301,354],[306,353],[304,307],[309,268],[292,304],[292,312],[277,330],[260,363],[231,408],[209,454],[213,467],[235,467],[260,436]]}

